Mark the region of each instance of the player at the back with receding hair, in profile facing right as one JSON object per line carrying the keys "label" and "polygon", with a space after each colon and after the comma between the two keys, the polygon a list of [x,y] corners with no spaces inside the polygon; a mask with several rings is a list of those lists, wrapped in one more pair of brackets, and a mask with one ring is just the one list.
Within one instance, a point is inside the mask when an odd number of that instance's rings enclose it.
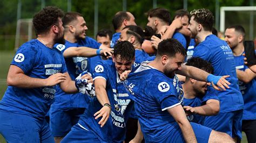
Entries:
{"label": "player at the back with receding hair, in profile facing right", "polygon": [[114,47],[114,45],[116,44],[117,40],[120,37],[121,31],[125,26],[128,25],[137,25],[135,23],[135,18],[132,15],[131,12],[125,12],[125,11],[119,11],[117,12],[113,19],[112,19],[112,24],[114,27],[114,31],[116,33],[113,34],[112,36],[112,40],[111,40],[111,47]]}

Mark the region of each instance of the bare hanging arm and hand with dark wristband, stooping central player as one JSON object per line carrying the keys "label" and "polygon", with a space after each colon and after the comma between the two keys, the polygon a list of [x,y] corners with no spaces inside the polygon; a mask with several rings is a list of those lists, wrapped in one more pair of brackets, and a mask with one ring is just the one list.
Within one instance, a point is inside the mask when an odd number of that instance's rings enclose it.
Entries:
{"label": "bare hanging arm and hand with dark wristband, stooping central player", "polygon": [[103,127],[107,119],[109,119],[112,107],[105,106],[106,103],[110,105],[109,98],[107,97],[107,92],[106,92],[106,80],[104,78],[96,78],[94,83],[95,83],[96,97],[99,103],[103,105],[102,109],[96,112],[94,116],[96,116],[95,119],[102,117],[102,119],[99,121],[98,124],[100,124],[100,127]]}

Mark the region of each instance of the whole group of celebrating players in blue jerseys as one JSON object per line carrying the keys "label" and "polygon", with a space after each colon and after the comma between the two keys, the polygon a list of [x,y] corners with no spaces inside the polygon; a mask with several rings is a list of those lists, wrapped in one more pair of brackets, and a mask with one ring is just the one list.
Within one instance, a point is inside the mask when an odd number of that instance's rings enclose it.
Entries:
{"label": "whole group of celebrating players in blue jerseys", "polygon": [[255,73],[240,25],[217,37],[210,10],[117,12],[86,36],[78,12],[47,6],[18,48],[0,101],[7,142],[256,142]]}

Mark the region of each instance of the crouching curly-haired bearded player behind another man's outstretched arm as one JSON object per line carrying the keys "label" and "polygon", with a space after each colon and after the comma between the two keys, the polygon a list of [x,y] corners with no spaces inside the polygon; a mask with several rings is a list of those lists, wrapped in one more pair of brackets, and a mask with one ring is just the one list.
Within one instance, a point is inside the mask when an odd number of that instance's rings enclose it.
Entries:
{"label": "crouching curly-haired bearded player behind another man's outstretched arm", "polygon": [[[203,69],[207,73],[213,73],[211,63],[198,57],[188,59],[186,65]],[[219,112],[220,102],[215,92],[205,96],[209,85],[210,83],[197,81],[190,77],[186,77],[185,83],[182,84],[184,91],[183,109],[189,121],[203,124],[204,116],[216,115]]]}

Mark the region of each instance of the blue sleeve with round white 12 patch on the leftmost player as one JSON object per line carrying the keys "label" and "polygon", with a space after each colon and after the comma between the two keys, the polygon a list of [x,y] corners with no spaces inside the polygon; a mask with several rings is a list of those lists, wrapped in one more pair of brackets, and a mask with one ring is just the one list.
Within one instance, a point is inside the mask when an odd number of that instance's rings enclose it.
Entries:
{"label": "blue sleeve with round white 12 patch on the leftmost player", "polygon": [[38,55],[41,54],[41,50],[33,47],[30,44],[24,44],[18,49],[11,65],[15,65],[23,70],[23,72],[29,73],[36,65],[38,61]]}

